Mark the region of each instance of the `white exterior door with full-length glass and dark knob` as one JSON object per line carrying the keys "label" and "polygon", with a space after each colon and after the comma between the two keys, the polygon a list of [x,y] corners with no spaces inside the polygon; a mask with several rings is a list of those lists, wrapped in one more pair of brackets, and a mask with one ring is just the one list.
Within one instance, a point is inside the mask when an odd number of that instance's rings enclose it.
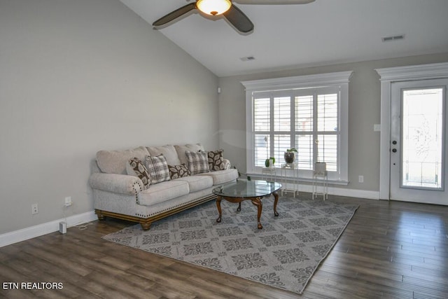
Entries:
{"label": "white exterior door with full-length glass and dark knob", "polygon": [[391,85],[391,200],[448,205],[447,86]]}

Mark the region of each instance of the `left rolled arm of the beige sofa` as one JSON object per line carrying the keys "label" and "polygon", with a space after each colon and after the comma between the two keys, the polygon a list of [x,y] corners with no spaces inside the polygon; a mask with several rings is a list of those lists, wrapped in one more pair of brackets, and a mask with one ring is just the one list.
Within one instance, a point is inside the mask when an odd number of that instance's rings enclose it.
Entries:
{"label": "left rolled arm of the beige sofa", "polygon": [[94,189],[120,194],[137,195],[144,190],[141,179],[126,174],[94,173],[90,175],[89,183]]}

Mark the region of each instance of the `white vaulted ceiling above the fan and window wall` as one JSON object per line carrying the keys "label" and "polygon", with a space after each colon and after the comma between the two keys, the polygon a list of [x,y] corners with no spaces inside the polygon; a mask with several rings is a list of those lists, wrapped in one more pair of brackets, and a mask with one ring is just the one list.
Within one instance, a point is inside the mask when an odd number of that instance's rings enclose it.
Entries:
{"label": "white vaulted ceiling above the fan and window wall", "polygon": [[[120,0],[152,24],[188,0]],[[256,0],[253,0],[256,2]],[[448,52],[448,0],[316,0],[234,4],[255,25],[239,34],[222,17],[191,13],[160,32],[217,76]],[[405,34],[399,41],[381,37]],[[241,61],[253,56],[255,60]]]}

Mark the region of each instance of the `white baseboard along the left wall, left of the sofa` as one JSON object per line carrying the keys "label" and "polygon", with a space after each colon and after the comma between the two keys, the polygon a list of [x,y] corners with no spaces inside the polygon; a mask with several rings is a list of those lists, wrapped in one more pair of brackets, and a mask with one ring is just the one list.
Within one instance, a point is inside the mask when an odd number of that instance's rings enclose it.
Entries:
{"label": "white baseboard along the left wall, left of the sofa", "polygon": [[57,232],[59,230],[59,222],[61,221],[65,221],[67,228],[69,228],[94,220],[97,220],[94,211],[87,211],[83,214],[77,214],[67,218],[30,226],[29,228],[22,228],[21,230],[15,230],[13,232],[6,232],[5,234],[0,235],[0,247],[46,235],[50,232]]}

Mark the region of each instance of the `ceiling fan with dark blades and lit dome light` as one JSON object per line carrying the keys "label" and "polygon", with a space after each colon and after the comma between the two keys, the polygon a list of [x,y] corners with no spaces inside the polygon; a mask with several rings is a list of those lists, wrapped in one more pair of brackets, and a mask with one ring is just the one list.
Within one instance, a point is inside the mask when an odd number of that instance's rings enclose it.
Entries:
{"label": "ceiling fan with dark blades and lit dome light", "polygon": [[[307,4],[315,0],[235,0],[239,4]],[[198,10],[207,15],[216,16],[223,15],[235,29],[241,33],[248,33],[253,30],[253,23],[239,9],[232,0],[196,0],[186,6],[176,9],[159,20],[153,22],[154,27],[161,27],[167,23],[189,13]]]}

